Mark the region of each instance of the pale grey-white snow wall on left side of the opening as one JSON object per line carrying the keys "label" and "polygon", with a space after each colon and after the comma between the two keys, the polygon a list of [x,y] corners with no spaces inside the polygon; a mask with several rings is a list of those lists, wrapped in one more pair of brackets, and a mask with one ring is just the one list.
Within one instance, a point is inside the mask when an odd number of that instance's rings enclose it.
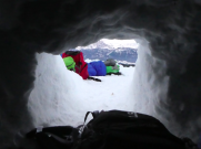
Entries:
{"label": "pale grey-white snow wall on left side of the opening", "polygon": [[82,103],[77,95],[83,86],[82,78],[67,70],[60,55],[41,53],[36,56],[34,88],[28,103],[34,127],[78,126],[78,119],[82,120]]}

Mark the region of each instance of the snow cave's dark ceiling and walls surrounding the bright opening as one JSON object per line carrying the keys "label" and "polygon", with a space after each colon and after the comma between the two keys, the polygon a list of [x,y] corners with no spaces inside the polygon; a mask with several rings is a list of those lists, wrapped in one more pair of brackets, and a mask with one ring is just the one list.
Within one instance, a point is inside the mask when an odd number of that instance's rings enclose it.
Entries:
{"label": "snow cave's dark ceiling and walls surrounding the bright opening", "polygon": [[[78,125],[102,107],[154,116],[175,136],[198,141],[200,14],[198,0],[2,0],[0,147],[18,146],[16,136],[36,126]],[[59,55],[101,39],[139,43],[131,79],[117,84],[127,96],[108,93],[117,96],[111,107],[103,94],[83,96],[98,89],[94,82],[67,71]]]}

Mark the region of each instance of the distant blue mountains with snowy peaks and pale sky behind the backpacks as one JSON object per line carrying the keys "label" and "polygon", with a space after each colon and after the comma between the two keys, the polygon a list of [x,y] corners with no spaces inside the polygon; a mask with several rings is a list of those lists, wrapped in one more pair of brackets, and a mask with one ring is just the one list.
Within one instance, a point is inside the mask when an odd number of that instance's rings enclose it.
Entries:
{"label": "distant blue mountains with snowy peaks and pale sky behind the backpacks", "polygon": [[114,58],[135,63],[139,44],[134,40],[102,39],[88,46],[78,46],[76,50],[83,52],[84,58],[101,60]]}

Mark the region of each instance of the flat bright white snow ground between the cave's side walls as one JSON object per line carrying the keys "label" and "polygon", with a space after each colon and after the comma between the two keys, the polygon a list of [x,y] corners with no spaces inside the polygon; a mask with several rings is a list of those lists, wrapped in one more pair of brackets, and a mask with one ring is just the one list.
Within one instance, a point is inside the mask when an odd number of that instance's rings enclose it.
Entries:
{"label": "flat bright white snow ground between the cave's side walls", "polygon": [[[123,75],[99,76],[102,82],[84,81],[84,93],[82,98],[92,104],[87,107],[96,109],[122,109],[132,110],[133,104],[129,98],[129,89],[133,77],[133,67],[121,67]],[[132,106],[131,106],[132,105]]]}

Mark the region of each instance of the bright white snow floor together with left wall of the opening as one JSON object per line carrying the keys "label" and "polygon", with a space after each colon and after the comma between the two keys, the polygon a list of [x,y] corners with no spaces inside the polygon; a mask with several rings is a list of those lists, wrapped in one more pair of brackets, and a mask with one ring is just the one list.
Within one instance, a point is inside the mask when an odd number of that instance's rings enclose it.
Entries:
{"label": "bright white snow floor together with left wall of the opening", "polygon": [[[87,111],[133,111],[131,83],[134,67],[122,67],[123,75],[99,76],[102,82],[83,81],[66,68],[59,55],[37,54],[34,89],[29,99],[29,109],[34,126],[71,125],[83,123]],[[51,66],[51,68],[50,68]]]}

